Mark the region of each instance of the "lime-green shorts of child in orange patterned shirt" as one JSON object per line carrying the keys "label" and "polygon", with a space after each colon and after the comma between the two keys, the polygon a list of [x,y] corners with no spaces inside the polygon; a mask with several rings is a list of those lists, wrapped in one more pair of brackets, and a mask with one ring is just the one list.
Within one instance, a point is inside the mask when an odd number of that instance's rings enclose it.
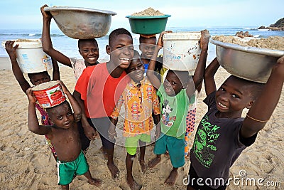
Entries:
{"label": "lime-green shorts of child in orange patterned shirt", "polygon": [[149,134],[138,134],[135,137],[126,137],[125,139],[126,151],[131,156],[136,154],[139,140],[142,142],[151,142],[151,136]]}

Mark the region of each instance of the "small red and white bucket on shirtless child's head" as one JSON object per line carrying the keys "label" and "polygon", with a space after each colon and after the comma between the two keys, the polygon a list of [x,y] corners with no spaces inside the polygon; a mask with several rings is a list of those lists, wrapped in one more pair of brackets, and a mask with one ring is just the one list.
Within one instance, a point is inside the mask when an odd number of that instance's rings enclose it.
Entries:
{"label": "small red and white bucket on shirtless child's head", "polygon": [[49,108],[59,105],[66,100],[60,84],[56,81],[42,83],[33,87],[33,94],[40,107]]}

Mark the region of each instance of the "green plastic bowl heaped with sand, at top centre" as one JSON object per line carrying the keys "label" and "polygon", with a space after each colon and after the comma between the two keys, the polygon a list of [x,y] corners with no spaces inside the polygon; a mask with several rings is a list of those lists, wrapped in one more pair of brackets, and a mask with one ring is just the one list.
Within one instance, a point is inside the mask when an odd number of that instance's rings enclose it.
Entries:
{"label": "green plastic bowl heaped with sand, at top centre", "polygon": [[156,34],[165,31],[169,14],[163,16],[126,16],[131,31],[137,34]]}

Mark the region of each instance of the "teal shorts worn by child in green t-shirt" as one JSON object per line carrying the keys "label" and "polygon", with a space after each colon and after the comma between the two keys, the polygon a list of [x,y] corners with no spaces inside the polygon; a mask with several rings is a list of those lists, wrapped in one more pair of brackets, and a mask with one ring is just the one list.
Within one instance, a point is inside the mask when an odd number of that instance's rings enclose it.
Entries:
{"label": "teal shorts worn by child in green t-shirt", "polygon": [[185,139],[160,134],[160,138],[155,142],[154,153],[165,154],[167,149],[173,167],[182,167],[185,164]]}

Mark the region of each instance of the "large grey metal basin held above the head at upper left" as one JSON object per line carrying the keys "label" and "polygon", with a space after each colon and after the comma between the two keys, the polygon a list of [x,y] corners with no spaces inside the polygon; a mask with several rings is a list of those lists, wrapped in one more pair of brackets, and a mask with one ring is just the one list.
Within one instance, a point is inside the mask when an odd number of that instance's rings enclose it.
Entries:
{"label": "large grey metal basin held above the head at upper left", "polygon": [[116,15],[112,11],[71,6],[45,7],[44,11],[50,11],[62,33],[75,39],[106,36],[111,26],[111,16]]}

